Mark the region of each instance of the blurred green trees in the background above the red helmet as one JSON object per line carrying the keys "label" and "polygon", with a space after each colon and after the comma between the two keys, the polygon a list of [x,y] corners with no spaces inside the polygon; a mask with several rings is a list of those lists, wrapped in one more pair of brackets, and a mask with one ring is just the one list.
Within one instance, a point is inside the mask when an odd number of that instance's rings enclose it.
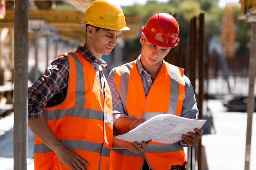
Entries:
{"label": "blurred green trees in the background above the red helmet", "polygon": [[[174,15],[180,25],[180,38],[183,46],[189,43],[190,20],[204,13],[205,41],[209,42],[214,35],[221,35],[223,9],[218,7],[219,0],[169,0],[166,3],[148,1],[145,5],[135,4],[124,7],[125,15],[138,15],[144,19],[144,24],[154,14],[164,12]],[[236,24],[236,44],[238,52],[243,53],[248,49],[250,39],[250,24],[238,19],[240,6],[234,9]],[[198,19],[197,19],[198,24]],[[137,41],[137,39],[136,39]],[[136,43],[134,43],[136,44]],[[132,41],[129,42],[132,48]],[[136,46],[137,50],[137,46]]]}

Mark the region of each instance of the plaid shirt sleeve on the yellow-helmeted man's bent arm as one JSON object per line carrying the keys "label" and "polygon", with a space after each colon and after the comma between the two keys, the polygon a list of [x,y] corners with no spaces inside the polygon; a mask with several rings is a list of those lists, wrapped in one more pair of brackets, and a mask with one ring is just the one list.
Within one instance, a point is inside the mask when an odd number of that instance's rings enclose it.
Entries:
{"label": "plaid shirt sleeve on the yellow-helmeted man's bent arm", "polygon": [[[43,108],[47,102],[57,93],[67,88],[68,84],[68,60],[67,57],[59,57],[54,60],[28,90],[29,119],[35,119],[43,115]],[[63,99],[64,100],[64,99]],[[56,103],[52,102],[52,106]]]}

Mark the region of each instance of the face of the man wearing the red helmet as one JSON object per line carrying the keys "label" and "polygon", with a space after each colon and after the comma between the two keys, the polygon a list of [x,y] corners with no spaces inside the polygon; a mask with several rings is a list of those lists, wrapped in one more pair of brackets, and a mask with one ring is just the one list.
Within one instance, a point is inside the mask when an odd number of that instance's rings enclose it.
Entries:
{"label": "face of the man wearing the red helmet", "polygon": [[166,49],[149,43],[145,40],[142,34],[140,38],[140,43],[142,45],[140,60],[144,68],[160,68],[162,65],[162,60],[168,54],[170,49]]}

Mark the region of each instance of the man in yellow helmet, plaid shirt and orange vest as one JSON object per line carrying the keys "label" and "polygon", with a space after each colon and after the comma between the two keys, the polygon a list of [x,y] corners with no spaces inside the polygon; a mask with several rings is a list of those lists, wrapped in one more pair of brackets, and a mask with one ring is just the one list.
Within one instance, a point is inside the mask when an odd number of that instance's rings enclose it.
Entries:
{"label": "man in yellow helmet, plaid shirt and orange vest", "polygon": [[96,0],[85,12],[84,46],[61,54],[29,87],[28,126],[35,137],[35,170],[108,170],[113,119],[102,70],[126,26],[121,7]]}

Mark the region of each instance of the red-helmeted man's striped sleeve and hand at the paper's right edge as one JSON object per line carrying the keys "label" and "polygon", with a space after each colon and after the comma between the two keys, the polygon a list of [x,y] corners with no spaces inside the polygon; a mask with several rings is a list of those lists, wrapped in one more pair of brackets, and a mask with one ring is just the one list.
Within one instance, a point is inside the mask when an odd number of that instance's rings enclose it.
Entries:
{"label": "red-helmeted man's striped sleeve and hand at the paper's right edge", "polygon": [[[193,86],[191,85],[191,82],[188,77],[184,76],[184,80],[186,89],[181,116],[189,119],[198,119],[198,108]],[[203,134],[202,129],[200,130],[198,128],[195,128],[195,132],[196,133],[189,132],[188,135],[182,135],[183,142],[184,144],[186,144],[186,146],[194,146],[198,144],[198,142],[201,140]],[[182,144],[181,141],[181,145],[184,146],[184,144]]]}

